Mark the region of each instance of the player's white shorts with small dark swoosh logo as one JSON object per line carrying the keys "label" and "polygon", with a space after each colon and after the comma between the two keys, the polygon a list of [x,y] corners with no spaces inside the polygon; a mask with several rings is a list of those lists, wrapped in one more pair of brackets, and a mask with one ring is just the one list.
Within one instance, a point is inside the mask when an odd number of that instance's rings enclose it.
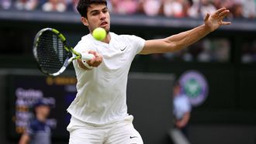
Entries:
{"label": "player's white shorts with small dark swoosh logo", "polygon": [[67,131],[69,144],[143,144],[140,133],[133,127],[133,115],[108,125],[93,125],[72,116]]}

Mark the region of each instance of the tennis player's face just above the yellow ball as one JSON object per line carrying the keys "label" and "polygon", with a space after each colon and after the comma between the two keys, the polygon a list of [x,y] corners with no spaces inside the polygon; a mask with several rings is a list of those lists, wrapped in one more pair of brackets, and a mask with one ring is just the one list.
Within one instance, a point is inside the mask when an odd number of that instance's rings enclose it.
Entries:
{"label": "tennis player's face just above the yellow ball", "polygon": [[92,4],[88,8],[87,19],[82,17],[81,21],[85,26],[88,26],[90,33],[97,28],[102,27],[109,33],[110,15],[109,9],[104,4]]}

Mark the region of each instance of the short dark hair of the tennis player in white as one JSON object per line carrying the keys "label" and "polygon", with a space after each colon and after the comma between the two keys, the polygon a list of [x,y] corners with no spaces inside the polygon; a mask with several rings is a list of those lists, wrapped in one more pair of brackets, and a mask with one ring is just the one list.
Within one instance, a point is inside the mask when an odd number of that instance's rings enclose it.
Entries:
{"label": "short dark hair of the tennis player in white", "polygon": [[105,4],[106,0],[79,0],[77,9],[82,17],[87,18],[88,7],[92,4]]}

